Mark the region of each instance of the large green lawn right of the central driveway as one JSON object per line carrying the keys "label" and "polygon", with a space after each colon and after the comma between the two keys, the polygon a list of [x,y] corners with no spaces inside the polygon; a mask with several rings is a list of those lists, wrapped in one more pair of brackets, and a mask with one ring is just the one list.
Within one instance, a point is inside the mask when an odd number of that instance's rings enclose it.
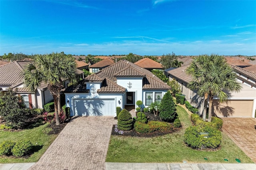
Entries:
{"label": "large green lawn right of the central driveway", "polygon": [[186,160],[187,162],[237,163],[235,158],[239,158],[242,163],[253,163],[224,133],[222,133],[221,149],[217,151],[199,151],[187,147],[183,142],[183,134],[185,128],[192,125],[190,116],[181,106],[176,108],[183,126],[180,132],[152,138],[111,136],[106,162],[182,162]]}

